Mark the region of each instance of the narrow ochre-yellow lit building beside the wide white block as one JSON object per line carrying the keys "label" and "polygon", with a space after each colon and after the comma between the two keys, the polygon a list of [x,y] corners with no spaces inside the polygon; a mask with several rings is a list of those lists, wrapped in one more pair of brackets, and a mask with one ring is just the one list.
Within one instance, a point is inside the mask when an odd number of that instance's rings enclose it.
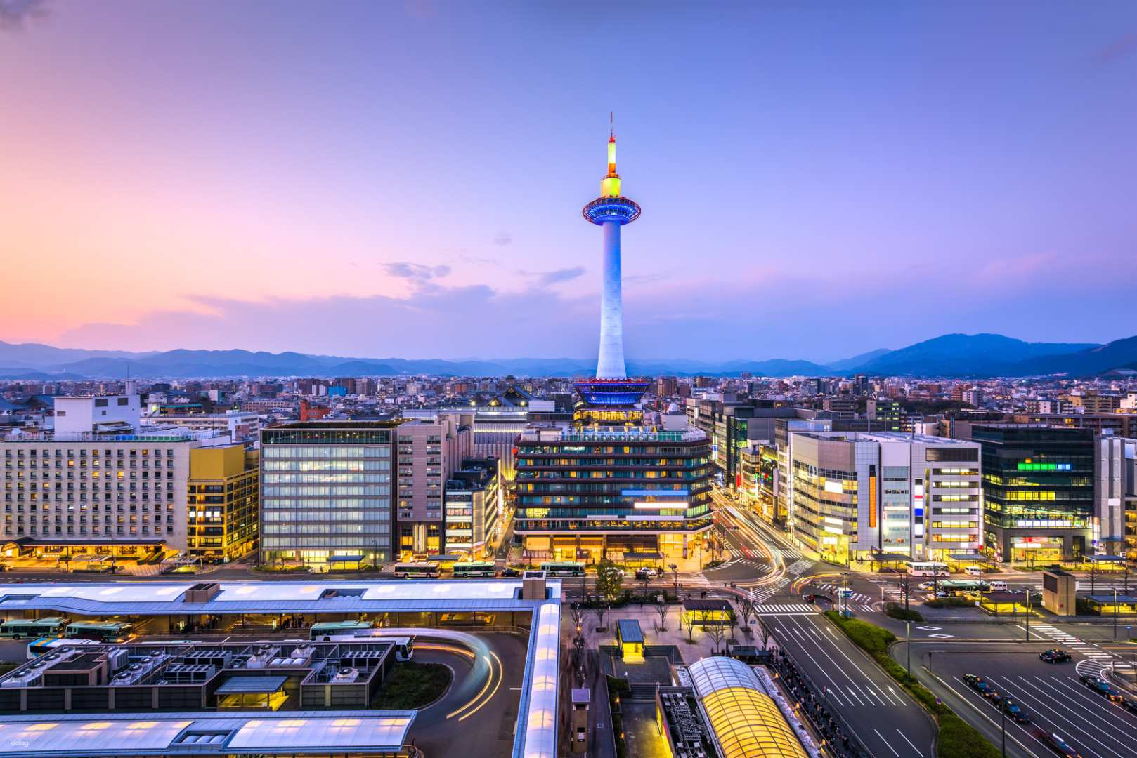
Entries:
{"label": "narrow ochre-yellow lit building beside the wide white block", "polygon": [[257,548],[259,452],[242,444],[190,450],[185,551],[205,561],[242,558]]}

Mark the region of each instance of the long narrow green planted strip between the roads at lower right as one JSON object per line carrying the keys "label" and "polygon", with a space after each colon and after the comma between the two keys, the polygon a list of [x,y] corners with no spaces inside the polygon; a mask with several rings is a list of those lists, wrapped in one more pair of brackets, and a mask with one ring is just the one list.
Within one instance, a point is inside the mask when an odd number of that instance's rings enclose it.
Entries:
{"label": "long narrow green planted strip between the roads at lower right", "polygon": [[998,748],[893,660],[888,648],[897,641],[895,634],[869,622],[843,618],[835,610],[827,610],[824,615],[931,715],[939,731],[936,740],[938,758],[999,758]]}

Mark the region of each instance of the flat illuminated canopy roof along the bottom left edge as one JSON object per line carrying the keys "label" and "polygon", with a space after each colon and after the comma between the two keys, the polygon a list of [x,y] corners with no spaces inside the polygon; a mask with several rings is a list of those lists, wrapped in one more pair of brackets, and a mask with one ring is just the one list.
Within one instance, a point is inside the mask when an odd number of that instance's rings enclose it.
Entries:
{"label": "flat illuminated canopy roof along the bottom left edge", "polygon": [[6,716],[0,740],[11,758],[86,757],[92,744],[117,756],[393,752],[414,718],[413,710]]}

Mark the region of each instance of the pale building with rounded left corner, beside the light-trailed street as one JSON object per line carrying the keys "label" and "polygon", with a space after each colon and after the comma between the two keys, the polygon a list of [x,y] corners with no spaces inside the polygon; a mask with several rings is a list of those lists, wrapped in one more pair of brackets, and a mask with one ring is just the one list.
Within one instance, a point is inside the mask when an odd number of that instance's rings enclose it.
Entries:
{"label": "pale building with rounded left corner, beside the light-trailed street", "polygon": [[976,555],[981,544],[979,444],[895,432],[798,432],[789,456],[792,536],[849,565]]}

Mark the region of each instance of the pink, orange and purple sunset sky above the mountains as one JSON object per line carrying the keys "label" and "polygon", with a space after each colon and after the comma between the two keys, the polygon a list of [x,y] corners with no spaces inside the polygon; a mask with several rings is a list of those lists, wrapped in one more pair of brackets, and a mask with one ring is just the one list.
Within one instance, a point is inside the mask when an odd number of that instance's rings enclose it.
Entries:
{"label": "pink, orange and purple sunset sky above the mountains", "polygon": [[0,0],[0,340],[632,358],[1137,334],[1137,3]]}

